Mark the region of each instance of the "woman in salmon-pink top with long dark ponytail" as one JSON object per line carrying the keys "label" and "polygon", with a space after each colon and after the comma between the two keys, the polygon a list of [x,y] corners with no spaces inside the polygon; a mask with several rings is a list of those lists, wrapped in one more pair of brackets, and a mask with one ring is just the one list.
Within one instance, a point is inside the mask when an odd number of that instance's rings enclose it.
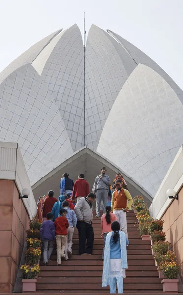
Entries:
{"label": "woman in salmon-pink top with long dark ponytail", "polygon": [[102,253],[102,260],[104,259],[104,248],[105,248],[105,240],[106,236],[109,232],[111,232],[111,223],[115,220],[117,220],[117,217],[115,214],[111,213],[111,206],[105,207],[106,213],[102,215],[101,217],[101,236],[103,236],[104,239],[104,247],[103,247],[103,253]]}

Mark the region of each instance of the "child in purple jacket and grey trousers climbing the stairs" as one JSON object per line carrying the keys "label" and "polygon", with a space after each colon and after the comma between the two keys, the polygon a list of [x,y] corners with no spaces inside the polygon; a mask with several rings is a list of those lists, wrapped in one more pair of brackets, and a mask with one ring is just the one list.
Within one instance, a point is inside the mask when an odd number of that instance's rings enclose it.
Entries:
{"label": "child in purple jacket and grey trousers climbing the stairs", "polygon": [[47,213],[47,220],[41,225],[40,236],[43,241],[43,263],[46,266],[53,251],[55,240],[55,224],[52,221],[53,214]]}

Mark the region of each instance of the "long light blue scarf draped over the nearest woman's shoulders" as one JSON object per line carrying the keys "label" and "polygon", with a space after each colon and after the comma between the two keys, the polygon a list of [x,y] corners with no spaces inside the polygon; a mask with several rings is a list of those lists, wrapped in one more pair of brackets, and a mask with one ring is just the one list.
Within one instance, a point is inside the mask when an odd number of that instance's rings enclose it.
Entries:
{"label": "long light blue scarf draped over the nearest woman's shoulders", "polygon": [[[110,250],[111,250],[111,236],[114,232],[109,232],[106,236],[105,251],[104,251],[104,267],[102,275],[102,287],[109,285],[109,271],[110,271]],[[126,236],[123,232],[119,232],[120,236],[120,249],[122,268],[128,268],[127,251],[126,251]]]}

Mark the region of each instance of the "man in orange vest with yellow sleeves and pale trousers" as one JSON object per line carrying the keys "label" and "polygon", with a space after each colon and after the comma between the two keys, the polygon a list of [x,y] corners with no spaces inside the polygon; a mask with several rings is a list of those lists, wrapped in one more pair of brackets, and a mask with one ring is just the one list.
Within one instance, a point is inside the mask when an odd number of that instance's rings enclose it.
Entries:
{"label": "man in orange vest with yellow sleeves and pale trousers", "polygon": [[121,231],[124,232],[126,234],[126,238],[128,238],[126,212],[131,207],[133,199],[129,191],[122,188],[122,183],[120,179],[116,180],[115,186],[116,190],[112,195],[111,208],[112,212],[116,215],[117,220],[120,223]]}

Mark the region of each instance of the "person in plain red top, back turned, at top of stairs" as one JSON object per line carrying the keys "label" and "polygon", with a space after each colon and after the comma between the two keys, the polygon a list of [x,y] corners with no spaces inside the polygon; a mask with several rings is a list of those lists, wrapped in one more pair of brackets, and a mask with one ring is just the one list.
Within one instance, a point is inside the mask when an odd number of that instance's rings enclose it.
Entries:
{"label": "person in plain red top, back turned, at top of stairs", "polygon": [[77,202],[80,198],[86,197],[90,193],[89,184],[84,178],[85,178],[84,174],[80,173],[78,175],[78,180],[74,182],[74,187],[72,192],[73,201],[76,199],[76,202]]}

